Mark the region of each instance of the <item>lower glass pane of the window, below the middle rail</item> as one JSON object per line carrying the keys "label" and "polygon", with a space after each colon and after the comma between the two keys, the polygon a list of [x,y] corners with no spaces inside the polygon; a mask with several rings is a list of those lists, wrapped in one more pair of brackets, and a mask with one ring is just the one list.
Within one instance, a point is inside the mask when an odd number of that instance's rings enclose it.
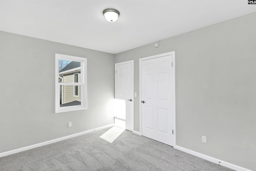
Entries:
{"label": "lower glass pane of the window, below the middle rail", "polygon": [[81,85],[60,85],[60,90],[60,107],[81,105]]}

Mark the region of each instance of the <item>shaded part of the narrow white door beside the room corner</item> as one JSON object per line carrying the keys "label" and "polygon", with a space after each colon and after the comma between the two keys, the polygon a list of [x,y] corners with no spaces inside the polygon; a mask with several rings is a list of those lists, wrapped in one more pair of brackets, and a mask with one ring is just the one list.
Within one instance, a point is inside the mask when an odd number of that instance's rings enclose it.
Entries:
{"label": "shaded part of the narrow white door beside the room corner", "polygon": [[115,72],[116,99],[125,101],[125,129],[133,131],[134,61],[115,64]]}

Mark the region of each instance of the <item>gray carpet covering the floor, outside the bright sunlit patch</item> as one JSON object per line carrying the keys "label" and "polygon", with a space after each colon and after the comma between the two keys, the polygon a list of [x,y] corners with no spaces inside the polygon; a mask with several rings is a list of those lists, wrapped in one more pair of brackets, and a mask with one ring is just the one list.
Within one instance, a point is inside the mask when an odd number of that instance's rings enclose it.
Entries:
{"label": "gray carpet covering the floor, outside the bright sunlit patch", "polygon": [[103,129],[0,158],[0,171],[233,171],[125,130]]}

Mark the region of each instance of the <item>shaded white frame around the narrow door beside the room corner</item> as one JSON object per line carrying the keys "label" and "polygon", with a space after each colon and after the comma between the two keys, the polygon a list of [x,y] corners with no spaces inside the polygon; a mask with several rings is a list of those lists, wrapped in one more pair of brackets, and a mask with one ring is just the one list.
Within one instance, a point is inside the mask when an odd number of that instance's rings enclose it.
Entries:
{"label": "shaded white frame around the narrow door beside the room corner", "polygon": [[[125,62],[119,62],[119,63],[116,63],[115,64],[115,72],[116,72],[116,67],[117,65],[122,65],[122,64],[129,64],[129,63],[132,63],[132,69],[133,69],[133,80],[132,80],[132,132],[134,132],[134,60],[130,60],[130,61],[125,61]],[[115,99],[116,99],[116,73],[115,73]]]}

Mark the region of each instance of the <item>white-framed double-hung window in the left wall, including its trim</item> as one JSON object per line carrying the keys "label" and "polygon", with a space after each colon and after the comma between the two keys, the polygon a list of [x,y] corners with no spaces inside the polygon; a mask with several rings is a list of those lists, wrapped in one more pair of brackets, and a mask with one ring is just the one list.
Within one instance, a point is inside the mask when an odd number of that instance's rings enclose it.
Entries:
{"label": "white-framed double-hung window in the left wall, including its trim", "polygon": [[86,58],[55,54],[55,113],[87,109]]}

